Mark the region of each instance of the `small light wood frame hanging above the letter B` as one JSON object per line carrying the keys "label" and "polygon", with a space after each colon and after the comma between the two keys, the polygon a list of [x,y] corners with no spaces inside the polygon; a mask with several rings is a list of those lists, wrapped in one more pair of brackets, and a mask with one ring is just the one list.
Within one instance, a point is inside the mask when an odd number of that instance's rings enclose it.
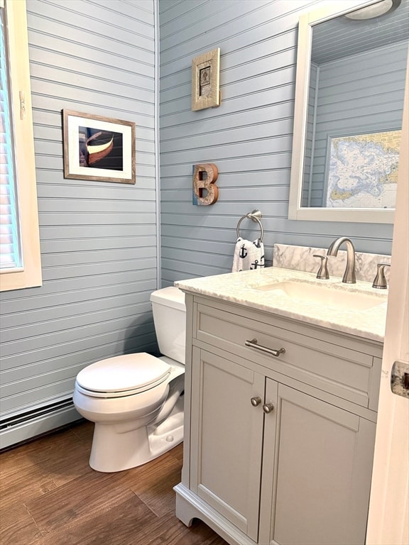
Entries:
{"label": "small light wood frame hanging above the letter B", "polygon": [[220,106],[220,48],[192,60],[192,111]]}

